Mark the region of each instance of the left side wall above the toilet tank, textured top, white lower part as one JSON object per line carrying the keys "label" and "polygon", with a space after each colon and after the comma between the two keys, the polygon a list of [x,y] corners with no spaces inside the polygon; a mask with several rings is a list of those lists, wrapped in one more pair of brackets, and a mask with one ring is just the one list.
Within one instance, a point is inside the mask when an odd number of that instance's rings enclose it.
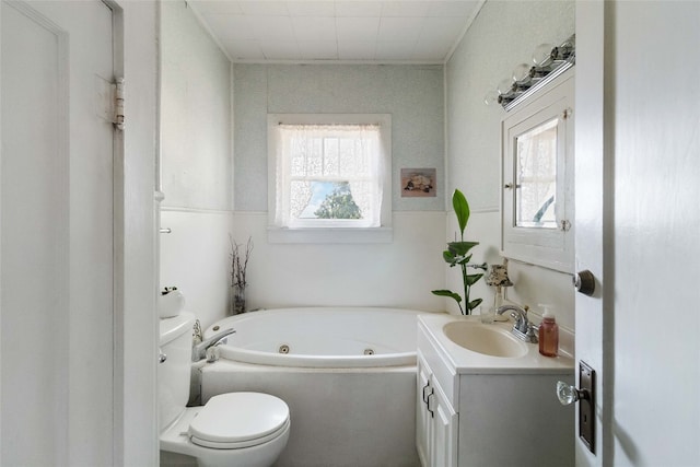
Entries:
{"label": "left side wall above the toilet tank, textured top, white lower part", "polygon": [[161,2],[160,287],[208,325],[226,313],[233,222],[231,65],[184,1]]}

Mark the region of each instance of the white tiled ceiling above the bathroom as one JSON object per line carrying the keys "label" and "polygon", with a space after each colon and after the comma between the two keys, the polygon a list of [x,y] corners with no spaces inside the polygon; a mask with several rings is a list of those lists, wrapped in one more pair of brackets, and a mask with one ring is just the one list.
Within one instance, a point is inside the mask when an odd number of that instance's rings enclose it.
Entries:
{"label": "white tiled ceiling above the bathroom", "polygon": [[188,0],[232,61],[442,63],[485,0]]}

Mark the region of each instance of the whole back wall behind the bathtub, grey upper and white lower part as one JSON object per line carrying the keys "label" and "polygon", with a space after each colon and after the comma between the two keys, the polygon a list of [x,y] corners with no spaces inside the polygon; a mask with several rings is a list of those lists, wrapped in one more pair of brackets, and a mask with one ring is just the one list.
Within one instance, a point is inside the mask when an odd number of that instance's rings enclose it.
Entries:
{"label": "whole back wall behind the bathtub, grey upper and white lower part", "polygon": [[[234,67],[235,227],[253,237],[248,307],[377,305],[444,308],[443,71],[435,66]],[[267,242],[267,114],[392,114],[394,241]],[[401,198],[402,167],[434,167],[438,196]]]}

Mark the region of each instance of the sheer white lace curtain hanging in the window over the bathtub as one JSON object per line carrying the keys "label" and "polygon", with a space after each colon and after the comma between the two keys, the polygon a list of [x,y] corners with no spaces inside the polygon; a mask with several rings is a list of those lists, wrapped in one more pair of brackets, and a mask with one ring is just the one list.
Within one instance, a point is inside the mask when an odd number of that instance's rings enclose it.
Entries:
{"label": "sheer white lace curtain hanging in the window over the bathtub", "polygon": [[[378,125],[284,125],[276,131],[278,226],[381,225],[383,154]],[[359,220],[308,219],[314,182],[347,183]],[[311,215],[313,217],[313,215]]]}

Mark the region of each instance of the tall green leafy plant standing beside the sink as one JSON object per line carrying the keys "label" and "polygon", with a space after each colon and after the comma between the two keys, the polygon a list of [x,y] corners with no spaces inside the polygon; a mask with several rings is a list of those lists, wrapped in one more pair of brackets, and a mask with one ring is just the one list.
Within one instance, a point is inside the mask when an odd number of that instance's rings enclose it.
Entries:
{"label": "tall green leafy plant standing beside the sink", "polygon": [[454,299],[459,306],[459,311],[463,315],[470,315],[471,311],[479,306],[481,303],[481,299],[469,300],[469,292],[471,290],[471,285],[477,283],[479,279],[483,277],[483,272],[477,273],[468,273],[469,268],[480,269],[486,271],[487,264],[483,262],[481,265],[472,265],[469,264],[471,260],[471,254],[469,250],[477,246],[479,242],[465,242],[464,240],[464,231],[467,227],[467,222],[469,221],[469,203],[467,202],[467,198],[464,196],[462,191],[455,189],[454,195],[452,196],[452,206],[454,207],[455,214],[457,215],[457,223],[459,224],[459,242],[450,242],[447,244],[447,249],[442,253],[442,257],[450,265],[450,267],[459,266],[462,270],[462,282],[464,284],[464,306],[462,305],[463,300],[462,295],[451,290],[433,290],[432,293],[438,296],[448,296]]}

